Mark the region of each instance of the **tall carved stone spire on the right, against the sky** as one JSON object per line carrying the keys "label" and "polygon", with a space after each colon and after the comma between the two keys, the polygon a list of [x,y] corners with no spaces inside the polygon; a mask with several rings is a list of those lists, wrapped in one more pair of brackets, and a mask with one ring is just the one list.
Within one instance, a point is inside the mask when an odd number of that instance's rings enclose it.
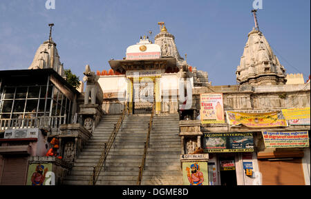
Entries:
{"label": "tall carved stone spire on the right, against the sky", "polygon": [[255,24],[257,29],[253,28],[248,34],[243,56],[236,70],[236,81],[241,85],[285,84],[286,70],[272,52],[263,33],[258,30],[258,24]]}

